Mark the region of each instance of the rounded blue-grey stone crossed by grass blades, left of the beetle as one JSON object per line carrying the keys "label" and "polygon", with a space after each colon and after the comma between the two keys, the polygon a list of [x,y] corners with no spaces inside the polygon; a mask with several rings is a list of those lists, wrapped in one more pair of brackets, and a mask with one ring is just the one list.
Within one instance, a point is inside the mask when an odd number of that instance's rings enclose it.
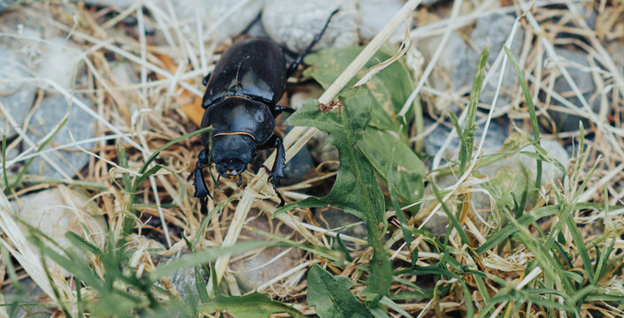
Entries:
{"label": "rounded blue-grey stone crossed by grass blades, left of the beetle", "polygon": [[[87,106],[91,107],[92,103],[88,100],[82,100]],[[42,140],[47,133],[54,131],[57,125],[62,121],[67,113],[69,102],[60,96],[50,96],[45,98],[39,108],[35,110],[35,114],[30,120],[27,136],[35,142]],[[72,105],[72,111],[65,126],[57,133],[46,148],[73,143],[70,133],[75,141],[87,140],[94,138],[94,119],[82,110],[78,105]],[[90,149],[94,145],[93,142],[81,144],[81,148]],[[61,170],[65,171],[68,176],[77,174],[82,167],[89,163],[89,155],[82,152],[78,148],[69,147],[58,150],[56,153],[47,153],[50,159],[58,164]],[[43,175],[52,178],[61,178],[61,174],[54,170],[48,163],[42,160],[41,155],[35,158],[35,161],[28,169],[29,174]]]}

